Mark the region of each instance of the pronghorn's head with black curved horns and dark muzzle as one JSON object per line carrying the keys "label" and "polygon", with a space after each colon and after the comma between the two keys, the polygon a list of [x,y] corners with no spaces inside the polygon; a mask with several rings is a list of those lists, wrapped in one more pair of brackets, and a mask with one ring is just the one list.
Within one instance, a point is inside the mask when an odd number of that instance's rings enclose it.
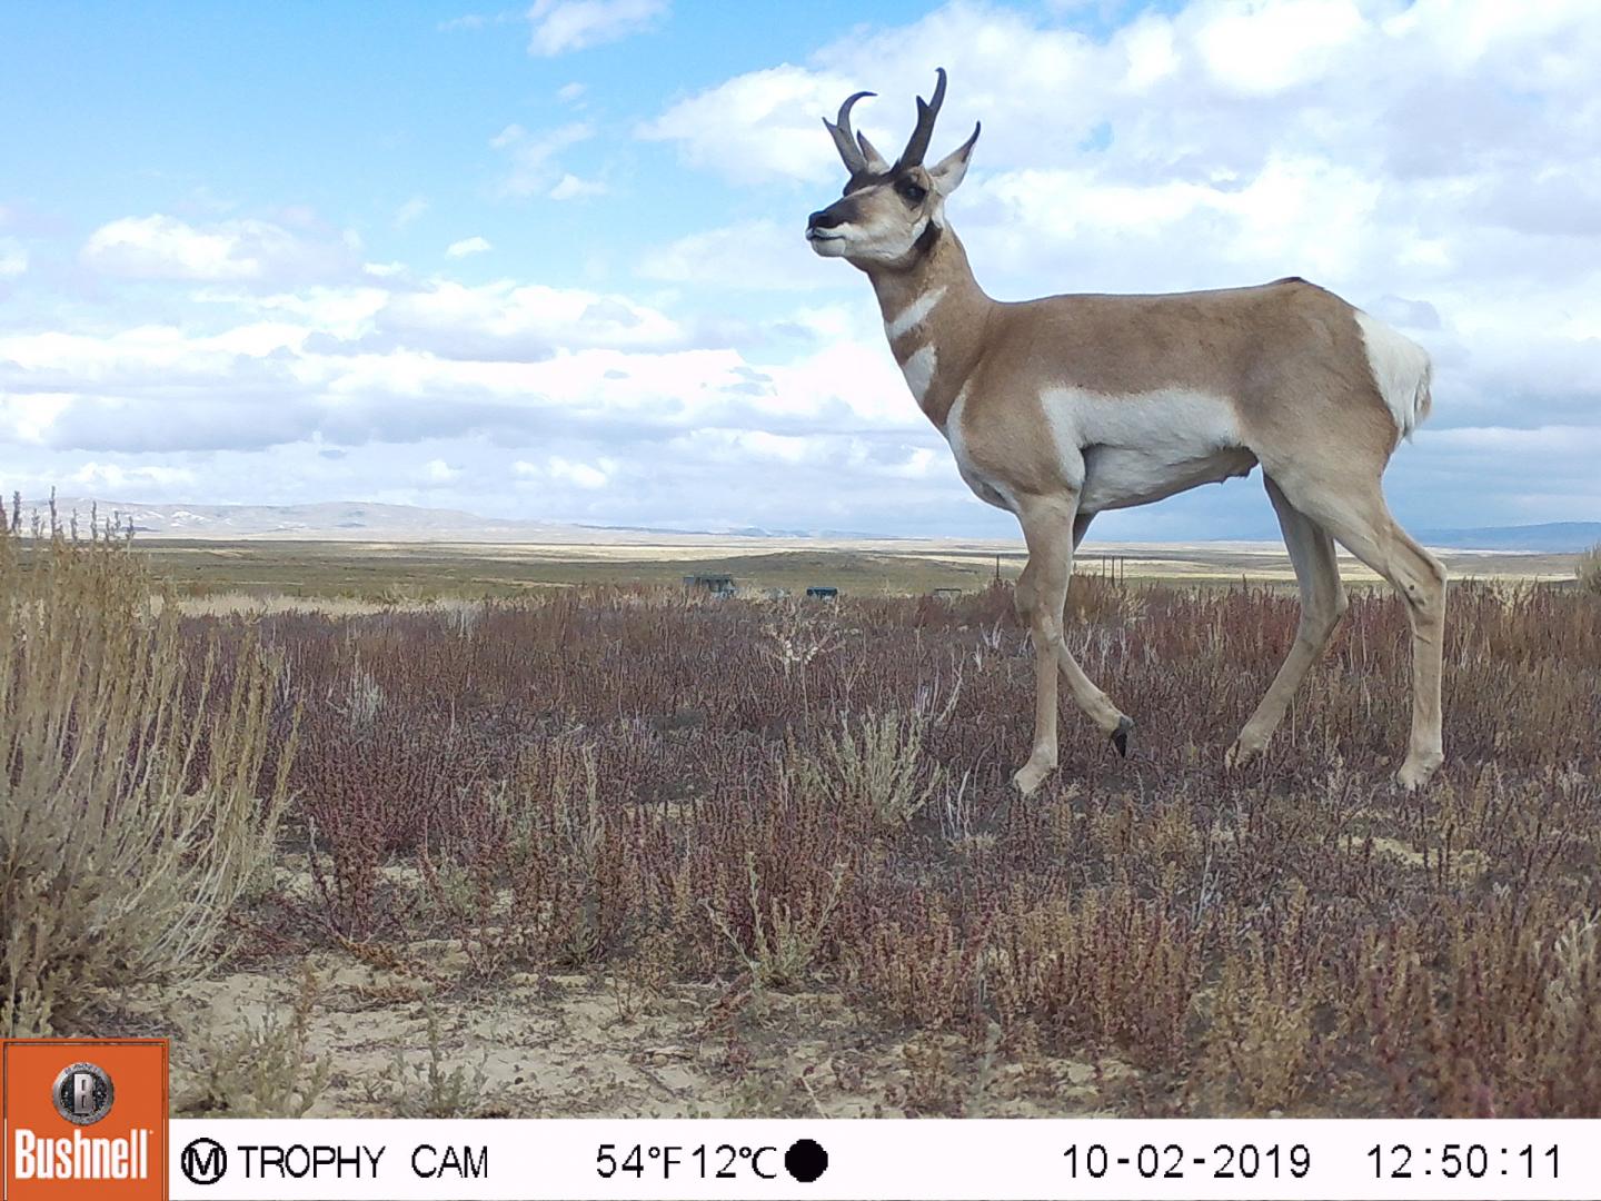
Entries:
{"label": "pronghorn's head with black curved horns and dark muzzle", "polygon": [[933,101],[917,98],[917,128],[893,163],[850,130],[850,107],[871,91],[858,91],[841,104],[837,123],[823,118],[850,179],[842,199],[807,219],[805,237],[818,255],[847,259],[863,271],[906,266],[927,239],[945,227],[945,197],[967,173],[978,127],[973,125],[973,136],[949,155],[924,167],[933,120],[945,101],[945,67],[938,69],[938,75]]}

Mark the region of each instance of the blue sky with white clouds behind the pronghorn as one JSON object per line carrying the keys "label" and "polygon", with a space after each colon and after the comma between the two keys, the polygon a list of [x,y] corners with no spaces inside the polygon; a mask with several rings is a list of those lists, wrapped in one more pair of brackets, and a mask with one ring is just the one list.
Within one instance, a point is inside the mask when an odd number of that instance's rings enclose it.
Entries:
{"label": "blue sky with white clouds behind the pronghorn", "polygon": [[[1012,535],[800,239],[935,66],[991,295],[1314,279],[1436,359],[1417,527],[1601,517],[1588,0],[0,11],[0,487]],[[1255,479],[1097,525],[1258,536]]]}

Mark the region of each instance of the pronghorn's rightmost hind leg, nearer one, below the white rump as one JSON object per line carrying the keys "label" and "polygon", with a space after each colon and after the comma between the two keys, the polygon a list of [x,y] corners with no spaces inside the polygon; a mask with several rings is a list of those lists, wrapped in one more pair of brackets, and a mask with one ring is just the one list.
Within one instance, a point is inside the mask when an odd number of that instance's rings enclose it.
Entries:
{"label": "pronghorn's rightmost hind leg, nearer one, below the white rump", "polygon": [[[1446,568],[1390,516],[1378,479],[1343,488],[1286,488],[1345,549],[1372,567],[1401,594],[1412,626],[1412,735],[1396,772],[1402,788],[1428,781],[1441,762],[1439,677],[1446,642]],[[1282,485],[1282,480],[1281,480]]]}

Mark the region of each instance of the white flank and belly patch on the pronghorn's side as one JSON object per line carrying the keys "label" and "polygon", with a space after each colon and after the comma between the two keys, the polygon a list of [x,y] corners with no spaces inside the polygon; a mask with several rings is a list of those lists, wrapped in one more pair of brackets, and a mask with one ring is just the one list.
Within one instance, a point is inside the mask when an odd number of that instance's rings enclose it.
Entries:
{"label": "white flank and belly patch on the pronghorn's side", "polygon": [[1076,480],[1082,472],[1084,512],[1148,504],[1257,464],[1241,442],[1234,405],[1222,396],[1185,388],[1134,396],[1047,388],[1039,400],[1063,474]]}

